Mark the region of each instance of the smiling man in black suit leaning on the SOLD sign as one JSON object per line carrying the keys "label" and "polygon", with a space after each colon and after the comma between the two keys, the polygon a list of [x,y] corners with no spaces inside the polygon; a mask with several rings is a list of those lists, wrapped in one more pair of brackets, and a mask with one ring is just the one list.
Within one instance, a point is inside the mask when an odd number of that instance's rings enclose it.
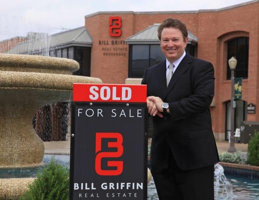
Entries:
{"label": "smiling man in black suit leaning on the SOLD sign", "polygon": [[213,200],[218,161],[209,105],[214,95],[210,62],[185,52],[184,23],[167,18],[158,27],[166,60],[144,71],[147,108],[153,116],[151,172],[160,200]]}

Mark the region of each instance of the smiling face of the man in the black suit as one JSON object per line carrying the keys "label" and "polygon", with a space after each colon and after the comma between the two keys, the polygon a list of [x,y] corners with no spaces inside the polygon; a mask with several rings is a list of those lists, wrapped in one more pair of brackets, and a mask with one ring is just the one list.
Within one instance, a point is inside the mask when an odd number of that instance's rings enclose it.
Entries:
{"label": "smiling face of the man in the black suit", "polygon": [[161,32],[160,46],[164,56],[173,62],[184,52],[188,38],[183,38],[178,28],[165,27]]}

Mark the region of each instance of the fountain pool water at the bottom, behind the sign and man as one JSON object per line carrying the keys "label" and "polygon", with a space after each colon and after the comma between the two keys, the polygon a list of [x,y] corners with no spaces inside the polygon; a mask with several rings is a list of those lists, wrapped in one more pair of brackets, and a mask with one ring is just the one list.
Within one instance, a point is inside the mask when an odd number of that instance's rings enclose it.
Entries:
{"label": "fountain pool water at the bottom, behind the sign and man", "polygon": [[[51,156],[53,155],[45,154],[43,157],[43,163],[47,164],[50,161]],[[69,155],[54,155],[54,158],[59,160],[62,165],[69,166]],[[41,168],[42,166],[25,169],[0,169],[0,178],[36,177],[37,171]],[[233,195],[229,200],[259,200],[259,179],[250,179],[229,174],[225,174],[225,176],[233,187]],[[151,179],[147,185],[147,200],[158,200],[153,179]]]}

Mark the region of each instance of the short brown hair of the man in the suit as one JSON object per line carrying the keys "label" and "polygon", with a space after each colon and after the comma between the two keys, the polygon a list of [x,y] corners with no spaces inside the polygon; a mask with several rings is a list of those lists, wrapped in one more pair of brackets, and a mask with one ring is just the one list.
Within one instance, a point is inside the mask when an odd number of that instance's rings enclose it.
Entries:
{"label": "short brown hair of the man in the suit", "polygon": [[169,27],[179,29],[181,31],[183,39],[185,39],[188,36],[188,31],[184,23],[182,23],[179,19],[176,19],[176,18],[167,18],[167,19],[164,19],[163,22],[158,26],[157,36],[159,40],[161,40],[161,32],[163,28],[169,28]]}

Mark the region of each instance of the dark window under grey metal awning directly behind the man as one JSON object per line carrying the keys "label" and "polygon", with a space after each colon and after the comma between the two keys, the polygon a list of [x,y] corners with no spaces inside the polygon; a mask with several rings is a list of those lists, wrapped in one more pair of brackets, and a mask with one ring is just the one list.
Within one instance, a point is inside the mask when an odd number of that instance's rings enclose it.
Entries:
{"label": "dark window under grey metal awning directly behind the man", "polygon": [[[196,46],[187,44],[186,51],[195,56]],[[164,59],[160,44],[129,44],[128,77],[143,77],[147,67]]]}

